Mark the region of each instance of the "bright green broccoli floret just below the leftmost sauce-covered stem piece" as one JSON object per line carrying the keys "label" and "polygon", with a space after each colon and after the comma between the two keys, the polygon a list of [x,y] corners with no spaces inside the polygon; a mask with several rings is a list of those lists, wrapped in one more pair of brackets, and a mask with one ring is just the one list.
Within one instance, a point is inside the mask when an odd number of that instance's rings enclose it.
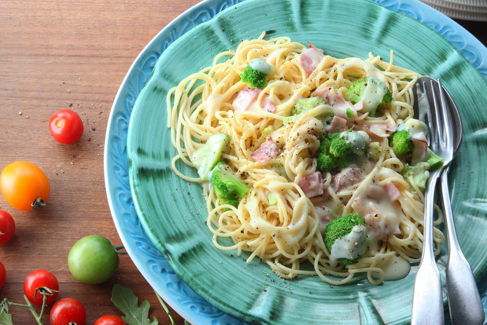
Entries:
{"label": "bright green broccoli floret just below the leftmost sauce-covered stem piece", "polygon": [[239,206],[239,201],[250,190],[224,162],[216,164],[211,172],[211,184],[221,204]]}

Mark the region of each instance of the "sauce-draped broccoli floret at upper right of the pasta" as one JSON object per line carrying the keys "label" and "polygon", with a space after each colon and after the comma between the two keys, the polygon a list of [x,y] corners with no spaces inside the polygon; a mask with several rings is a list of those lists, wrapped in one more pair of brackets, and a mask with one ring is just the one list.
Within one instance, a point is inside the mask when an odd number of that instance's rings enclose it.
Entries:
{"label": "sauce-draped broccoli floret at upper right of the pasta", "polygon": [[356,104],[363,100],[363,110],[369,112],[369,116],[374,117],[377,107],[390,103],[393,95],[385,83],[377,78],[363,77],[350,85],[345,99]]}

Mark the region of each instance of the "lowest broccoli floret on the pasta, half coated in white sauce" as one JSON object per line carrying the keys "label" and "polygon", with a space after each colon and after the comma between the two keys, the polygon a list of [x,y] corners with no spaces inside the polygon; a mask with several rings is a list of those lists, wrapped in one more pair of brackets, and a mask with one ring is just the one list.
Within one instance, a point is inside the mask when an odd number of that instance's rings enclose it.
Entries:
{"label": "lowest broccoli floret on the pasta, half coated in white sauce", "polygon": [[[356,232],[354,242],[343,240],[351,232]],[[345,265],[357,264],[365,252],[365,242],[367,239],[367,229],[364,221],[359,214],[348,213],[341,218],[331,221],[325,228],[325,245],[333,258],[338,256],[338,261]],[[335,247],[337,240],[343,240],[344,245]],[[347,245],[348,244],[348,245]],[[347,256],[340,257],[340,256]]]}

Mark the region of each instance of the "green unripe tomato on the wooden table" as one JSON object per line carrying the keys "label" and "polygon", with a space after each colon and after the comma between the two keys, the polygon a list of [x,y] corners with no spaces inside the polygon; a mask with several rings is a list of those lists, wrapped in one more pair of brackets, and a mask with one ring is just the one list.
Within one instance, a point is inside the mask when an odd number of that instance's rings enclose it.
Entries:
{"label": "green unripe tomato on the wooden table", "polygon": [[68,266],[76,280],[89,285],[107,281],[118,268],[118,254],[108,238],[91,235],[71,248]]}

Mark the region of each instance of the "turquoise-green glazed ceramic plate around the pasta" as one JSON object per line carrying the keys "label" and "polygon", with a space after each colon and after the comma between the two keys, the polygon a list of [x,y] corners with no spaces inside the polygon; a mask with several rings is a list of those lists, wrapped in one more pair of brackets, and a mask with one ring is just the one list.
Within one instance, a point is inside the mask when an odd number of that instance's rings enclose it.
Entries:
{"label": "turquoise-green glazed ceramic plate around the pasta", "polygon": [[[367,0],[248,0],[187,32],[162,53],[131,112],[127,153],[135,209],[176,273],[212,305],[247,322],[371,324],[410,318],[415,268],[405,279],[380,286],[363,277],[341,287],[330,287],[317,277],[284,281],[263,264],[247,265],[232,257],[234,252],[215,249],[204,225],[202,190],[171,172],[175,150],[166,128],[167,92],[209,65],[218,52],[234,49],[240,39],[257,38],[262,31],[267,37],[309,40],[335,57],[367,57],[372,51],[388,58],[393,49],[395,64],[442,78],[465,129],[461,153],[450,171],[459,241],[475,275],[483,274],[487,249],[477,243],[487,232],[487,81],[431,28]],[[438,264],[444,274],[445,253]]]}

